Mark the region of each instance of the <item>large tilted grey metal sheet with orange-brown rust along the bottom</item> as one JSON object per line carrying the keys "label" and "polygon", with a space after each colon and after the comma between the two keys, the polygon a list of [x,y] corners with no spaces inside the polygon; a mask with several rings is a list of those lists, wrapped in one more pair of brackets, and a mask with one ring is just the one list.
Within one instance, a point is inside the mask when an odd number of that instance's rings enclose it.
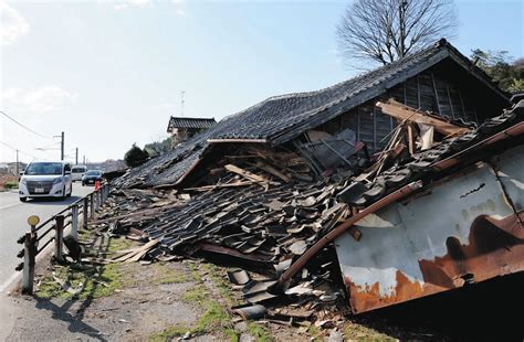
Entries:
{"label": "large tilted grey metal sheet with orange-brown rust along the bottom", "polygon": [[524,148],[478,163],[335,241],[355,313],[524,270]]}

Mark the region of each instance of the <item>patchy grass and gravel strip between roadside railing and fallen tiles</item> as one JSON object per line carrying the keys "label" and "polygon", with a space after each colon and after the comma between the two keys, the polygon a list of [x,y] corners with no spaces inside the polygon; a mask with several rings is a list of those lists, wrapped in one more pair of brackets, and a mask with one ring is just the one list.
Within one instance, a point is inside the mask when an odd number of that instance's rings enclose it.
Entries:
{"label": "patchy grass and gravel strip between roadside railing and fallen tiles", "polygon": [[[98,260],[117,258],[138,246],[134,241],[109,238],[97,231],[80,231],[80,239],[86,252],[84,257]],[[314,324],[300,329],[264,320],[243,321],[232,316],[229,308],[244,301],[241,291],[231,289],[226,278],[228,270],[231,268],[190,259],[51,265],[38,280],[35,297],[56,303],[64,300],[82,302],[80,307],[86,311],[82,314],[99,318],[98,323],[113,329],[111,335],[116,340],[159,342],[200,336],[218,341],[270,342],[323,341],[329,336],[329,330]],[[149,312],[147,319],[144,310]],[[132,317],[129,312],[133,312]],[[391,340],[349,320],[340,327],[340,332],[352,340]]]}

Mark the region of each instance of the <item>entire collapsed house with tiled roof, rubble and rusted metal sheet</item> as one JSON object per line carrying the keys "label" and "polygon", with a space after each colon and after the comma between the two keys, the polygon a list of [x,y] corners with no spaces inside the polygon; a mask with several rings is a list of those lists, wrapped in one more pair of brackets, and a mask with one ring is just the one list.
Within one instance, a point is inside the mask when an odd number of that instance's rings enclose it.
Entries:
{"label": "entire collapsed house with tiled roof, rubble and rusted metal sheet", "polygon": [[524,104],[506,107],[441,40],[224,118],[117,179],[105,216],[148,241],[140,257],[265,269],[229,275],[252,304],[360,313],[522,271]]}

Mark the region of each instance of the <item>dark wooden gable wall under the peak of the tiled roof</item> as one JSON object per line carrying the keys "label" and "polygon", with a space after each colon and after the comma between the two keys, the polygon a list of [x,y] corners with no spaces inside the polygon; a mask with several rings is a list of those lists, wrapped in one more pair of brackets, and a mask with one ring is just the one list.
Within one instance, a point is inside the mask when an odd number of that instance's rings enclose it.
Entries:
{"label": "dark wooden gable wall under the peak of the tiled roof", "polygon": [[499,96],[467,71],[451,61],[443,61],[316,129],[336,135],[350,128],[357,140],[365,142],[370,151],[380,150],[387,143],[386,136],[397,125],[394,118],[375,106],[378,100],[388,98],[450,119],[476,124],[500,115],[505,106]]}

